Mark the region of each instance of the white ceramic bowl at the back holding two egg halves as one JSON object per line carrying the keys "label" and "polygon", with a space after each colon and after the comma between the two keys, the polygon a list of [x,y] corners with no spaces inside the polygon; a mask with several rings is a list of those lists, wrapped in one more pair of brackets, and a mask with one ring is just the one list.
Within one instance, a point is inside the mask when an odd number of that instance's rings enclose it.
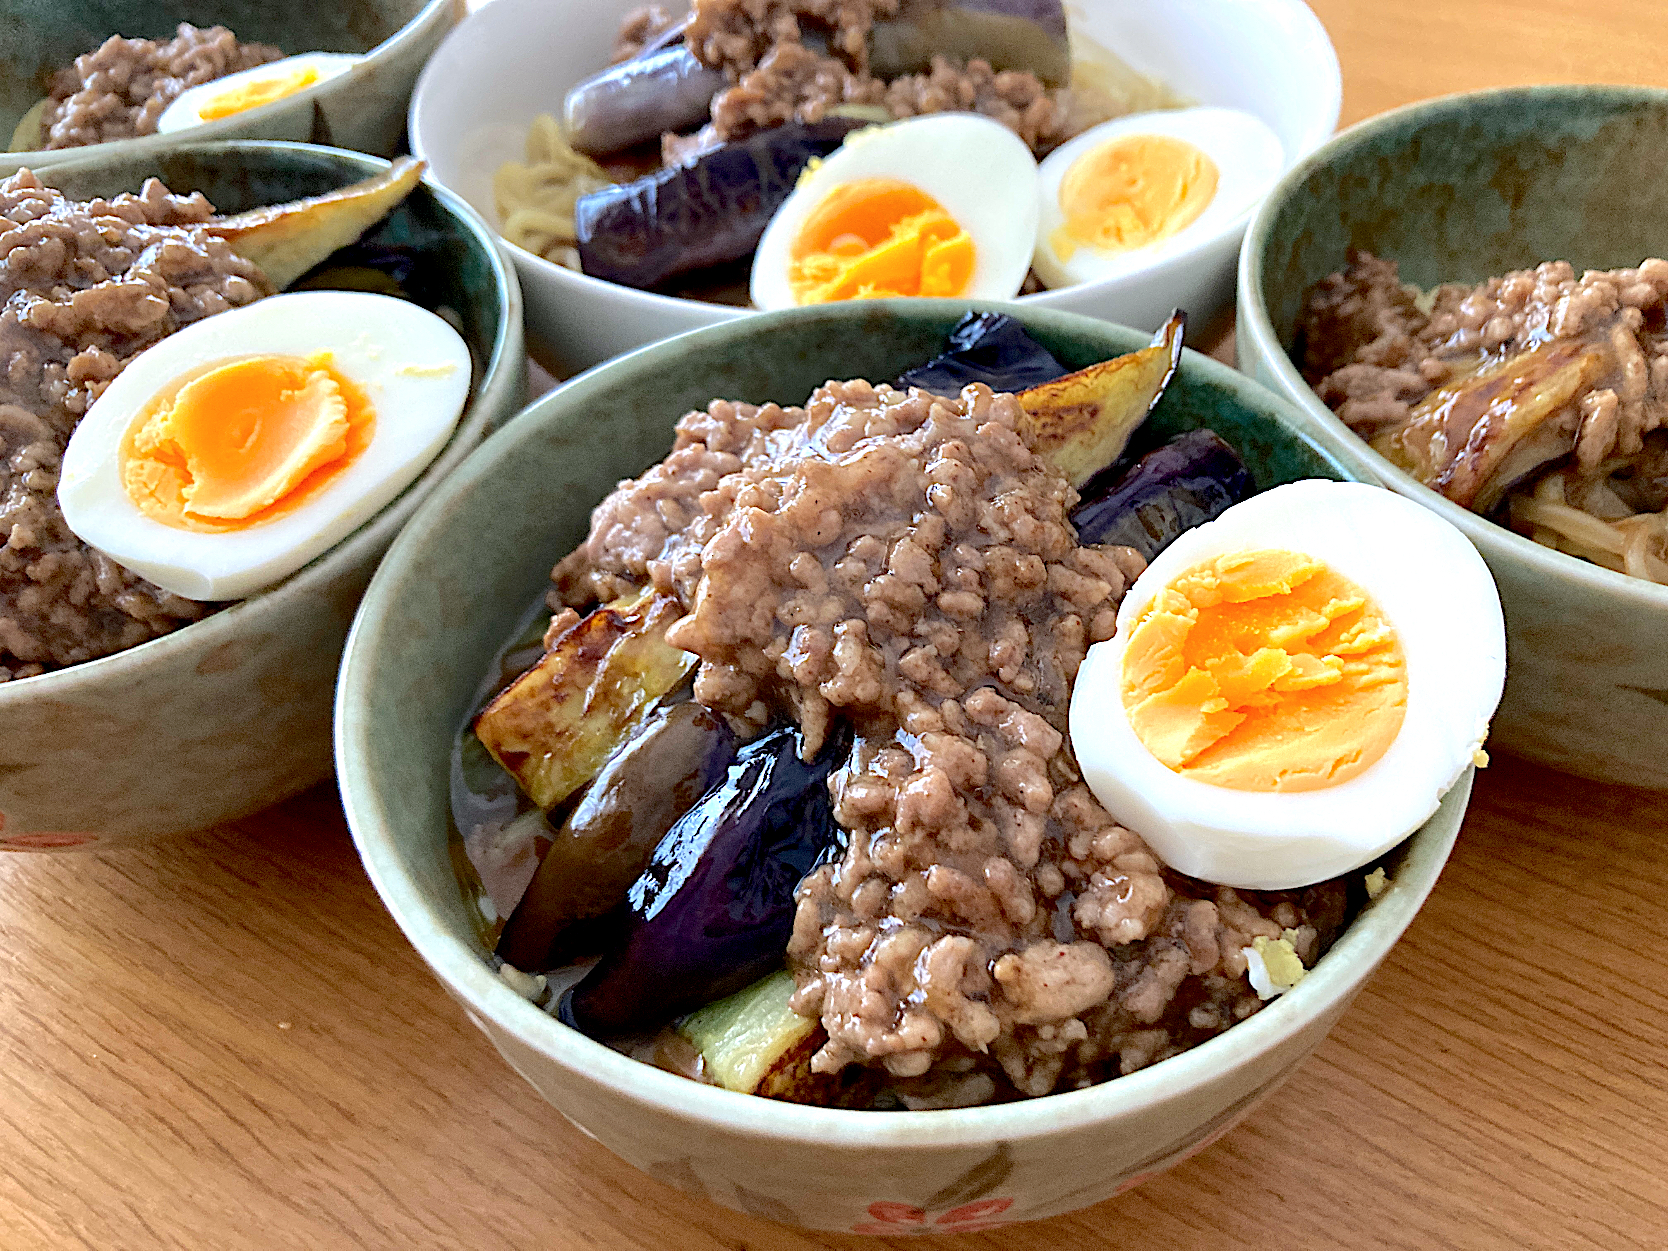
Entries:
{"label": "white ceramic bowl at the back holding two egg halves", "polygon": [[[435,52],[410,105],[412,150],[434,177],[497,222],[492,173],[522,160],[527,125],[609,62],[636,0],[492,0]],[[1288,167],[1338,123],[1338,57],[1303,0],[1081,0],[1074,28],[1204,105],[1244,108],[1279,137]],[[1196,332],[1233,304],[1234,257],[1251,210],[1141,274],[1026,295],[1031,307],[1156,327],[1186,309]],[[510,247],[527,299],[527,347],[567,374],[744,310],[585,277]]]}

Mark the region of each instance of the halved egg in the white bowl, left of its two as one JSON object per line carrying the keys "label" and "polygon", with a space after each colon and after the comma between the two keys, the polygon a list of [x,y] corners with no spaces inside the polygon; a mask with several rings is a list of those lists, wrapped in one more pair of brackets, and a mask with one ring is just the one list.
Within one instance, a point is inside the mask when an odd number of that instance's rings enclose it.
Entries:
{"label": "halved egg in the white bowl, left of its two", "polygon": [[859,130],[771,219],[752,302],[1006,300],[1031,267],[1036,215],[1036,162],[999,122],[934,113]]}

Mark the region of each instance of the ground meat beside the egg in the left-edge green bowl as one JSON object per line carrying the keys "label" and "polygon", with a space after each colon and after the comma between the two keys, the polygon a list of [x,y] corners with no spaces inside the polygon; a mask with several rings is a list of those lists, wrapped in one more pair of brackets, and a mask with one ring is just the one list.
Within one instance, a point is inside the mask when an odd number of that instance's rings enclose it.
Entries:
{"label": "ground meat beside the egg in the left-edge green bowl", "polygon": [[73,202],[0,180],[0,682],[108,656],[197,620],[87,547],[58,510],[75,424],[122,367],[182,325],[269,292],[203,230],[200,193]]}

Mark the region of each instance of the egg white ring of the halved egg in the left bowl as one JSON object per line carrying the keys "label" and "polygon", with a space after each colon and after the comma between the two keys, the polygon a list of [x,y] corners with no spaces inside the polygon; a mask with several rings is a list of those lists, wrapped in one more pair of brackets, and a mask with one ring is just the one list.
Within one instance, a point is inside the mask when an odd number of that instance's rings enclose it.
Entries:
{"label": "egg white ring of the halved egg in the left bowl", "polygon": [[[370,445],[314,499],[260,525],[180,530],[122,487],[122,437],[153,395],[205,365],[330,352],[375,412]],[[58,507],[83,542],[185,599],[244,599],[334,547],[399,495],[445,445],[469,399],[462,337],[427,309],[369,292],[272,295],[205,317],[117,374],[63,454]]]}

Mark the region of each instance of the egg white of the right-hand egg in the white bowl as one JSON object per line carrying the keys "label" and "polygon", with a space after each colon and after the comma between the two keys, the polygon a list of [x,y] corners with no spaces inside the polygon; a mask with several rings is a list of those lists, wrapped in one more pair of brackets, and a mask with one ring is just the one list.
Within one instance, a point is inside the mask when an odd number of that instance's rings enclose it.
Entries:
{"label": "egg white of the right-hand egg in the white bowl", "polygon": [[[1059,185],[1078,158],[1108,140],[1168,135],[1193,143],[1216,162],[1216,195],[1193,222],[1168,239],[1126,252],[1079,247],[1071,259],[1054,250],[1053,235],[1064,225]],[[1258,117],[1238,108],[1171,108],[1133,113],[1061,143],[1037,167],[1037,235],[1031,259],[1046,287],[1069,287],[1156,265],[1206,239],[1236,227],[1268,195],[1286,163],[1279,137]]]}

